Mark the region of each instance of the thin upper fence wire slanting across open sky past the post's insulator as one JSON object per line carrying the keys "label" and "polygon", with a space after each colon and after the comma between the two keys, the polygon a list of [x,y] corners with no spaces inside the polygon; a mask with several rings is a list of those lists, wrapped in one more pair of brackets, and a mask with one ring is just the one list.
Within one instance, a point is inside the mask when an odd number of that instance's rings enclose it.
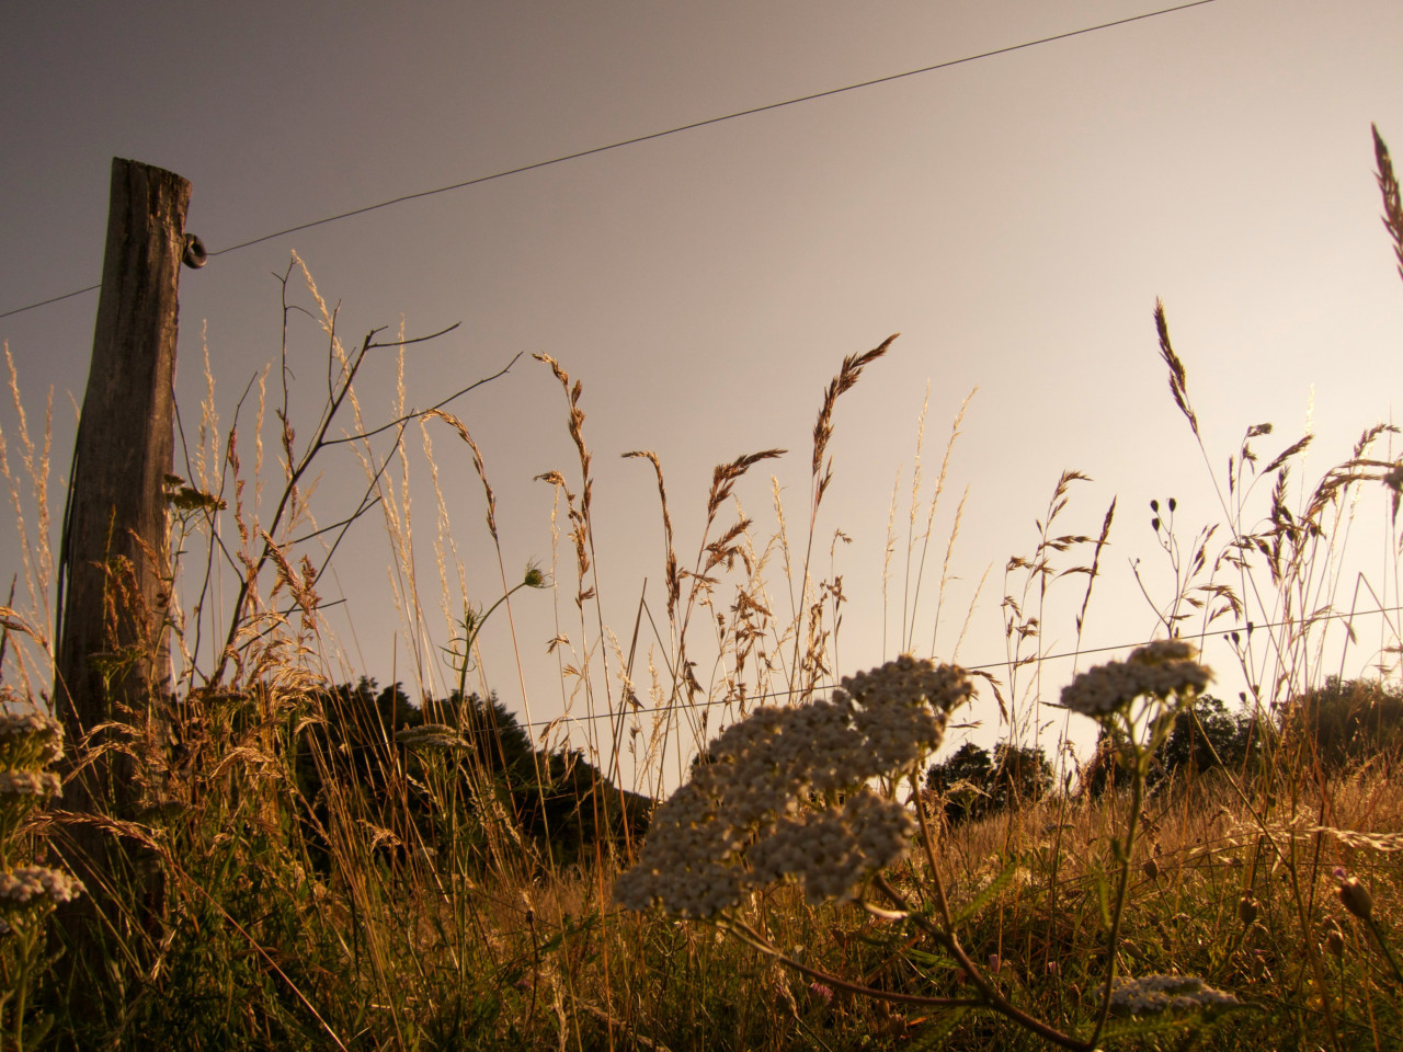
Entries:
{"label": "thin upper fence wire slanting across open sky past the post's insulator", "polygon": [[[1016,52],[1016,50],[1024,50],[1027,48],[1037,48],[1040,45],[1054,43],[1056,41],[1066,41],[1066,39],[1070,39],[1073,36],[1083,36],[1086,34],[1100,32],[1101,29],[1113,29],[1113,28],[1120,27],[1120,25],[1128,25],[1131,22],[1141,22],[1141,21],[1145,21],[1148,18],[1159,18],[1160,15],[1174,14],[1177,11],[1186,11],[1186,10],[1191,8],[1191,7],[1202,7],[1205,4],[1212,4],[1212,3],[1216,3],[1216,0],[1190,0],[1188,3],[1176,4],[1173,7],[1163,7],[1163,8],[1157,10],[1157,11],[1146,11],[1143,14],[1128,15],[1125,18],[1115,18],[1113,21],[1100,22],[1097,25],[1086,25],[1086,27],[1082,27],[1080,29],[1068,29],[1066,32],[1054,34],[1051,36],[1040,36],[1038,39],[1024,41],[1021,43],[1010,43],[1010,45],[1003,46],[1003,48],[993,48],[991,50],[982,50],[982,52],[978,52],[978,53],[974,53],[974,55],[965,55],[964,58],[960,58],[960,59],[947,59],[946,62],[937,62],[937,63],[933,63],[930,66],[920,66],[919,69],[911,69],[911,70],[905,70],[902,73],[890,73],[887,76],[874,77],[871,80],[861,80],[861,81],[857,81],[857,83],[853,83],[853,84],[845,84],[842,87],[826,88],[824,91],[812,91],[812,93],[805,94],[805,95],[796,95],[794,98],[786,98],[786,100],[783,100],[780,102],[767,102],[765,105],[751,107],[748,109],[737,109],[735,112],[723,114],[720,116],[709,116],[709,118],[706,118],[703,121],[692,121],[689,123],[676,125],[675,128],[668,128],[668,129],[664,129],[661,132],[650,132],[647,135],[636,135],[636,136],[633,136],[630,139],[619,139],[617,142],[606,143],[605,146],[593,146],[593,147],[591,147],[588,150],[577,150],[575,153],[560,154],[557,157],[550,157],[550,159],[543,160],[543,161],[532,161],[530,164],[522,164],[522,166],[515,167],[515,168],[505,168],[502,171],[495,171],[495,173],[492,173],[490,175],[477,175],[474,178],[463,180],[460,182],[452,182],[452,184],[449,184],[446,187],[435,187],[434,189],[422,189],[422,191],[418,191],[415,194],[403,194],[403,195],[400,195],[397,198],[390,198],[387,201],[376,202],[375,205],[363,205],[362,208],[351,209],[349,212],[338,212],[338,213],[335,213],[333,216],[324,216],[323,219],[314,219],[314,220],[311,220],[309,223],[299,223],[296,226],[289,226],[289,227],[285,227],[282,230],[275,230],[271,234],[261,234],[258,237],[251,237],[247,241],[239,241],[237,244],[226,245],[224,248],[219,248],[219,250],[210,251],[208,255],[209,257],[226,255],[227,252],[236,252],[240,248],[248,248],[248,247],[255,245],[255,244],[262,244],[264,241],[272,241],[274,238],[285,237],[286,234],[295,234],[295,233],[299,233],[302,230],[310,230],[311,227],[324,226],[327,223],[337,223],[337,222],[340,222],[342,219],[351,219],[352,216],[363,216],[368,212],[377,212],[379,209],[391,208],[393,205],[403,205],[403,203],[405,203],[408,201],[419,201],[421,198],[431,198],[431,196],[435,196],[438,194],[449,194],[450,191],[455,191],[455,189],[466,189],[467,187],[478,187],[478,185],[481,185],[484,182],[492,182],[495,180],[505,180],[505,178],[508,178],[511,175],[521,175],[521,174],[528,173],[528,171],[537,171],[540,168],[549,168],[549,167],[553,167],[556,164],[564,164],[567,161],[577,161],[577,160],[581,160],[584,157],[592,157],[592,156],[599,154],[599,153],[606,153],[609,150],[619,150],[619,149],[623,149],[624,146],[637,146],[638,143],[647,143],[647,142],[652,142],[655,139],[664,139],[664,137],[671,136],[671,135],[680,135],[682,132],[693,132],[693,130],[696,130],[699,128],[707,128],[710,125],[717,125],[717,123],[724,122],[724,121],[735,121],[735,119],[742,118],[742,116],[755,116],[756,114],[766,114],[766,112],[770,112],[773,109],[783,109],[784,107],[800,105],[801,102],[814,102],[817,100],[831,98],[832,95],[840,95],[840,94],[845,94],[847,91],[859,91],[861,88],[875,87],[877,84],[890,84],[890,83],[892,83],[895,80],[905,80],[906,77],[916,77],[916,76],[922,76],[925,73],[934,73],[937,70],[951,69],[954,66],[964,66],[964,65],[971,63],[971,62],[979,62],[982,59],[992,59],[992,58],[996,58],[999,55],[1009,55],[1009,53]],[[27,310],[35,310],[38,307],[46,307],[51,303],[58,303],[60,300],[72,299],[73,296],[81,296],[86,292],[94,292],[94,290],[101,289],[101,288],[102,288],[102,285],[101,285],[101,282],[98,282],[97,285],[90,285],[86,289],[76,289],[74,292],[66,292],[62,296],[52,296],[51,299],[39,300],[38,303],[29,303],[29,304],[27,304],[24,307],[14,307],[11,310],[6,310],[6,311],[0,313],[0,318],[7,318],[7,317],[11,317],[14,314],[22,314]]]}

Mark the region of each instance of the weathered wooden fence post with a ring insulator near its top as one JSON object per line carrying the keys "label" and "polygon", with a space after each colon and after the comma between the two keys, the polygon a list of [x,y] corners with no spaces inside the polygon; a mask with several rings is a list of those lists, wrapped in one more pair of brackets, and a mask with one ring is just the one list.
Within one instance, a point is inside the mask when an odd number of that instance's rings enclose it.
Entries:
{"label": "weathered wooden fence post with a ring insulator near its top", "polygon": [[[180,175],[112,159],[102,292],[59,555],[53,700],[70,757],[86,734],[114,717],[159,722],[170,690],[164,488],[189,192]],[[100,755],[67,780],[63,808],[132,818],[130,771],[122,753]],[[93,975],[100,948],[90,926],[94,910],[105,912],[101,885],[112,875],[112,843],[91,822],[67,832],[69,863],[88,896],[63,920],[76,975],[88,971],[77,982],[91,983],[100,980]],[[81,989],[72,996],[87,1000]]]}

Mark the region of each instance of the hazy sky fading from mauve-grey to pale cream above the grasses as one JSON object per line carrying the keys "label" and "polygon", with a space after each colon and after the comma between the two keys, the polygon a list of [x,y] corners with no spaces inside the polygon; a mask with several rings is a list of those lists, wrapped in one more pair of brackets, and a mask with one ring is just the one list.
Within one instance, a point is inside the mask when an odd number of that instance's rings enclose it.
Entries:
{"label": "hazy sky fading from mauve-grey to pale cream above the grasses", "polygon": [[[100,279],[114,156],[188,178],[188,230],[217,252],[389,198],[1156,7],[7,4],[0,311]],[[408,352],[411,407],[523,355],[450,407],[483,450],[516,576],[528,560],[550,560],[553,492],[533,477],[560,470],[578,492],[560,387],[530,359],[549,353],[584,383],[599,588],[627,647],[644,578],[662,616],[662,539],[651,468],[619,454],[661,457],[678,554],[690,565],[711,467],[786,447],[737,494],[763,540],[774,529],[773,471],[800,540],[824,387],[845,355],[899,331],[835,421],[835,483],[815,548],[826,576],[833,530],[853,540],[838,554],[849,598],[839,670],[899,648],[891,628],[882,651],[882,548],[898,471],[905,529],[927,383],[927,491],[951,418],[979,390],[936,516],[918,652],[930,652],[927,599],[968,485],[936,651],[950,656],[992,564],[958,656],[1005,658],[1003,565],[1031,551],[1034,519],[1063,468],[1094,480],[1075,487],[1066,532],[1096,533],[1120,501],[1085,645],[1145,640],[1155,614],[1129,562],[1142,558],[1159,586],[1167,579],[1149,499],[1176,495],[1187,537],[1215,519],[1207,468],[1166,389],[1156,297],[1219,473],[1250,424],[1277,424],[1280,440],[1261,445],[1271,456],[1309,414],[1310,463],[1322,471],[1365,426],[1392,418],[1403,286],[1379,224],[1369,123],[1403,153],[1400,41],[1396,0],[1216,0],[216,255],[181,275],[188,440],[203,389],[202,328],[227,428],[239,393],[278,353],[271,275],[296,251],[341,303],[348,344],[375,327],[393,332],[401,317],[410,335],[462,323]],[[296,302],[310,306],[306,293]],[[31,426],[55,390],[56,491],[95,307],[88,293],[0,318]],[[306,435],[325,351],[303,318],[293,320],[290,352]],[[390,417],[394,384],[386,356],[361,389],[368,421]],[[0,411],[11,457],[14,422],[13,408]],[[481,487],[452,431],[431,435],[469,598],[487,606],[501,585]],[[417,432],[411,439],[417,450]],[[268,440],[271,456],[272,431]],[[324,467],[316,508],[330,523],[349,511],[359,468],[347,446]],[[422,466],[414,471],[421,588],[432,644],[442,645],[435,498]],[[1383,506],[1374,499],[1371,522]],[[347,654],[338,668],[412,685],[410,647],[403,635],[394,642],[382,522],[373,513],[352,533],[321,591],[348,600],[327,614]],[[1361,555],[1382,565],[1378,546]],[[560,557],[568,598],[567,547]],[[13,533],[0,540],[0,568],[20,569]],[[1083,582],[1059,588],[1065,616]],[[550,598],[521,595],[513,613],[532,717],[549,720],[561,711],[556,659],[544,654],[556,633]],[[1049,649],[1072,642],[1065,626],[1048,633]],[[483,642],[490,686],[522,711],[505,619]],[[442,662],[429,679],[448,680]],[[992,706],[975,718],[992,739]]]}

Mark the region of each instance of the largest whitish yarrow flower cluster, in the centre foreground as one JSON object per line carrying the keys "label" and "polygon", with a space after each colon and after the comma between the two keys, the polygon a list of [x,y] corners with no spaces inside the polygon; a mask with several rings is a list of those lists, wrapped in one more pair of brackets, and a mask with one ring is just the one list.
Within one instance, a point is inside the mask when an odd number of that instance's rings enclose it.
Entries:
{"label": "largest whitish yarrow flower cluster, in the centre foreground", "polygon": [[[658,809],[615,898],[710,917],[786,878],[811,902],[850,896],[905,853],[913,832],[905,809],[864,783],[934,750],[947,713],[971,692],[962,669],[904,655],[845,677],[828,700],[758,708],[711,743],[692,781]],[[828,807],[804,809],[812,800]]]}

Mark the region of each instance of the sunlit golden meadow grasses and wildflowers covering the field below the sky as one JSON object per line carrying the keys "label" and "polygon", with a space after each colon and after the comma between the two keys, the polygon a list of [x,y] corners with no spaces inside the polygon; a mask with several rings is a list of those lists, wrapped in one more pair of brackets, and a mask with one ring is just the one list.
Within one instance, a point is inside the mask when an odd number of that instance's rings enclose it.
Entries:
{"label": "sunlit golden meadow grasses and wildflowers covering the field below the sky", "polygon": [[[1378,137],[1376,161],[1403,274],[1403,206]],[[48,429],[29,432],[11,366],[18,429],[0,473],[27,584],[0,610],[0,1048],[1403,1045],[1399,637],[1368,668],[1338,656],[1355,638],[1340,567],[1360,508],[1392,516],[1386,576],[1399,569],[1392,426],[1365,429],[1313,483],[1309,438],[1271,446],[1270,425],[1250,426],[1214,474],[1219,519],[1184,547],[1176,502],[1156,502],[1176,586],[1155,603],[1160,640],[1134,652],[1087,655],[1068,675],[1041,645],[1059,579],[1080,584],[1063,600],[1080,642],[1114,529],[1113,504],[1099,533],[1061,532],[1082,478],[1068,471],[1033,553],[1007,562],[1002,669],[919,655],[836,668],[842,616],[875,614],[845,612],[840,579],[817,569],[831,447],[843,394],[887,339],[845,359],[824,394],[797,533],[777,490],[769,530],[735,498],[780,452],[760,450],[717,466],[685,561],[661,460],[626,454],[654,471],[665,539],[662,642],[636,672],[602,613],[582,386],[539,356],[577,463],[543,477],[554,572],[513,575],[469,428],[443,405],[366,421],[354,380],[372,341],[345,349],[295,268],[333,377],[314,438],[299,445],[283,389],[276,477],[262,450],[276,390],[261,380],[244,433],[220,431],[210,380],[170,490],[171,679],[80,741],[60,741],[46,708]],[[1202,447],[1162,307],[1155,323]],[[431,452],[429,425],[464,443],[501,565],[497,595],[449,603],[449,638],[419,600],[391,471],[412,426]],[[321,529],[306,468],[337,429],[365,497]],[[389,456],[369,440],[386,431]],[[951,445],[957,433],[958,419]],[[912,522],[927,520],[906,546],[918,593],[948,463],[947,447],[933,495],[912,497]],[[265,485],[278,499],[254,501]],[[442,511],[436,471],[432,487]],[[411,634],[452,655],[446,694],[333,672],[317,588],[341,533],[372,511],[400,555]],[[462,576],[445,515],[434,551],[448,596]],[[606,728],[585,743],[558,727],[532,735],[529,713],[494,693],[513,685],[473,675],[483,624],[540,589],[560,612],[563,693]],[[222,595],[234,596],[223,613]],[[899,627],[899,649],[919,649]],[[543,659],[529,641],[521,654]],[[1209,665],[1215,683],[1247,685],[1236,704],[1211,693]],[[937,752],[971,696],[998,708],[1003,741]],[[1079,762],[1059,741],[1048,755],[1028,728],[1049,713],[1094,718],[1094,753]],[[81,778],[102,753],[123,757],[128,802],[66,809],[59,773]],[[109,864],[80,888],[84,836],[104,837]]]}

